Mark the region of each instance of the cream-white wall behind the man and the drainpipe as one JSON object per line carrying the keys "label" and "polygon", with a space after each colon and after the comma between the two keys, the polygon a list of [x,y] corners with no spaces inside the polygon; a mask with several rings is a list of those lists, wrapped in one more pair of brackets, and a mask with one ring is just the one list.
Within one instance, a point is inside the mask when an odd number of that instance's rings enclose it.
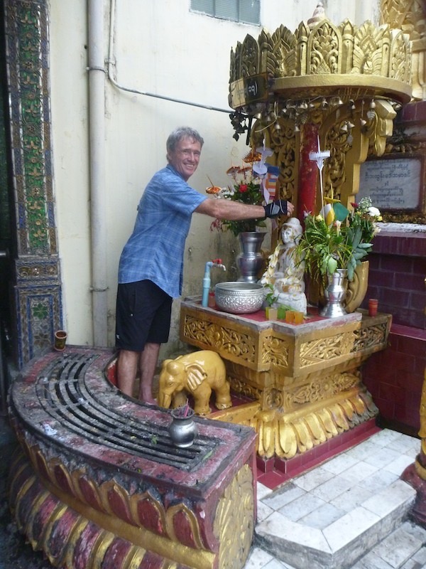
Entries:
{"label": "cream-white wall behind the man and the drainpipe", "polygon": [[[290,4],[290,6],[289,6]],[[325,4],[325,3],[324,3]],[[355,23],[356,5],[328,0],[327,15]],[[369,4],[369,3],[368,3]],[[229,55],[247,33],[261,28],[217,20],[189,11],[189,0],[116,0],[114,74],[124,87],[231,111],[227,104]],[[312,16],[316,2],[263,0],[261,18],[268,31],[283,23],[295,30]],[[344,10],[351,10],[348,14]],[[374,6],[371,7],[373,11]],[[105,58],[108,54],[109,0],[105,10]],[[365,7],[363,16],[365,16]],[[50,68],[53,158],[65,327],[72,344],[92,344],[89,216],[89,149],[87,112],[87,2],[51,0]],[[107,279],[109,345],[114,345],[116,275],[119,255],[133,228],[136,206],[153,173],[165,165],[165,140],[180,125],[204,137],[198,171],[190,183],[199,191],[226,185],[225,171],[240,164],[247,151],[245,137],[233,139],[227,112],[204,110],[105,87]],[[195,215],[185,249],[183,296],[201,294],[204,264],[222,257],[229,271],[214,280],[234,280],[236,241],[211,233],[211,219]],[[165,220],[165,225],[167,220]],[[178,303],[173,313],[169,346],[178,346]]]}

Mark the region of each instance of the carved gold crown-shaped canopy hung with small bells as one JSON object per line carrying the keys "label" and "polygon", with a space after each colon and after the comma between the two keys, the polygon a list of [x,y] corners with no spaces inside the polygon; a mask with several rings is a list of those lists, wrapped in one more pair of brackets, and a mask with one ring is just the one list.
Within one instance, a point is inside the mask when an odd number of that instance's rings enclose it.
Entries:
{"label": "carved gold crown-shaped canopy hung with small bells", "polygon": [[241,119],[255,119],[252,144],[264,139],[273,150],[268,161],[280,167],[281,197],[297,204],[309,125],[330,150],[325,196],[347,206],[355,201],[361,164],[369,150],[383,154],[396,112],[412,94],[410,38],[406,28],[392,26],[348,19],[335,25],[319,3],[295,31],[262,30],[231,50],[229,104]]}

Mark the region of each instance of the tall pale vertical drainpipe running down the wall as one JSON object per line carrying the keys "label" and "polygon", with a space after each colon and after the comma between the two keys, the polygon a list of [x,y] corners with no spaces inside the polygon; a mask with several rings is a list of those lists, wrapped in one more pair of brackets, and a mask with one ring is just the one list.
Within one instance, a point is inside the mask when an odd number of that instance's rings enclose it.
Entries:
{"label": "tall pale vertical drainpipe running down the wall", "polygon": [[89,15],[89,162],[94,346],[107,346],[107,215],[105,203],[104,0]]}

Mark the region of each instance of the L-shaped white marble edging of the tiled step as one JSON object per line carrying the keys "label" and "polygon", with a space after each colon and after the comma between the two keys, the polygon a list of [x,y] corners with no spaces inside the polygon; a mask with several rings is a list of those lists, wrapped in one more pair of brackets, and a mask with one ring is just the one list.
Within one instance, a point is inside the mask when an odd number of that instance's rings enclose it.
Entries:
{"label": "L-shaped white marble edging of the tiled step", "polygon": [[[278,489],[265,500],[266,506],[280,504],[280,494],[293,492],[294,497],[298,489],[295,484]],[[318,499],[309,494],[302,497]],[[415,490],[397,479],[322,528],[293,521],[285,516],[285,508],[280,508],[257,524],[255,543],[295,569],[349,569],[366,551],[392,546],[392,534],[408,518],[414,501]],[[419,543],[418,548],[421,546]],[[400,566],[391,565],[393,569]],[[359,565],[359,569],[364,567],[373,566]]]}

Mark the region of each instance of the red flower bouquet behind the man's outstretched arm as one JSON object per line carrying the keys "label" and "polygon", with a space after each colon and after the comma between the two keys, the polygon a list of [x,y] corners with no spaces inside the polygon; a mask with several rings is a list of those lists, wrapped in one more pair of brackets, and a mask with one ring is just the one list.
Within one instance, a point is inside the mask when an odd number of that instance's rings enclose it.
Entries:
{"label": "red flower bouquet behind the man's outstretched arm", "polygon": [[[256,155],[244,158],[245,162],[255,161]],[[249,203],[259,206],[264,202],[262,191],[262,177],[257,176],[253,171],[253,167],[249,164],[246,166],[231,166],[226,171],[231,177],[232,184],[226,188],[219,186],[211,186],[207,188],[207,193],[212,193],[218,199],[226,199],[231,201],[239,201],[241,203]],[[266,224],[261,219],[244,219],[238,221],[215,219],[210,225],[210,230],[230,230],[235,236],[244,231],[256,231],[256,227],[265,227]]]}

